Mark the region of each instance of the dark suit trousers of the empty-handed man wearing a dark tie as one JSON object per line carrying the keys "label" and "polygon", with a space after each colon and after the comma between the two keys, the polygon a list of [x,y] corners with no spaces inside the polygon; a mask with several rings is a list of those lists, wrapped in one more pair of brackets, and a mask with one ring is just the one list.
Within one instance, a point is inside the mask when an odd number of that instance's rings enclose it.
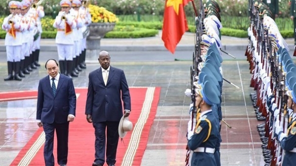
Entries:
{"label": "dark suit trousers of the empty-handed man wearing a dark tie", "polygon": [[66,165],[68,158],[68,136],[69,136],[69,122],[66,123],[42,123],[43,131],[45,133],[44,143],[44,161],[45,166],[54,166],[53,157],[53,140],[54,131],[57,135],[57,155],[58,164]]}

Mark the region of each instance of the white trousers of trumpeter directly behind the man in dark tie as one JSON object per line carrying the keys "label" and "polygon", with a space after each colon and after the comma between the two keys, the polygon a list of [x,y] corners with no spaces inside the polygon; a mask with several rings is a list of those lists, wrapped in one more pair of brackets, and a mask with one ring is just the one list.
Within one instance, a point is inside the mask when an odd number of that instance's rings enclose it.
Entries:
{"label": "white trousers of trumpeter directly behind the man in dark tie", "polygon": [[59,61],[73,61],[73,44],[57,44]]}

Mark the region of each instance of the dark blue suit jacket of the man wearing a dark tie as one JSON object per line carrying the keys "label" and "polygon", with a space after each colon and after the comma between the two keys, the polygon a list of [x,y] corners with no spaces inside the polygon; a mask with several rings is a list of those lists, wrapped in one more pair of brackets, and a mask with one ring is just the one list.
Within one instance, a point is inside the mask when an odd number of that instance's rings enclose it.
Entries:
{"label": "dark blue suit jacket of the man wearing a dark tie", "polygon": [[40,79],[37,98],[37,119],[42,123],[66,123],[68,115],[75,116],[76,94],[70,77],[60,74],[55,97],[49,75]]}

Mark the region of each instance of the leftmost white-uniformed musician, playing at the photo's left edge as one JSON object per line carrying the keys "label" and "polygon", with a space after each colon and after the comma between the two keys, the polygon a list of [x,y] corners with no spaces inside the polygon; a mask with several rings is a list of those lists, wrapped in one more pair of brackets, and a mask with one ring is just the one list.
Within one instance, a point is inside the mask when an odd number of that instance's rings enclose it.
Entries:
{"label": "leftmost white-uniformed musician, playing at the photo's left edge", "polygon": [[[7,56],[8,76],[4,81],[18,80],[21,81],[19,76],[21,65],[21,48],[22,48],[22,31],[23,25],[20,22],[19,6],[14,0],[8,3],[10,15],[5,17],[2,24],[2,29],[6,31],[5,46]],[[13,75],[14,71],[14,75]]]}

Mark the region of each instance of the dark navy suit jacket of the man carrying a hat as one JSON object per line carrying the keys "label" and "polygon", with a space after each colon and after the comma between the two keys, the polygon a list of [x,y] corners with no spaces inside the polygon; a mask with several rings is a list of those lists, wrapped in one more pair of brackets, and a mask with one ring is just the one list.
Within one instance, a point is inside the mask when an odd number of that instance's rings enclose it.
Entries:
{"label": "dark navy suit jacket of the man carrying a hat", "polygon": [[124,109],[131,110],[131,98],[123,70],[110,66],[107,86],[102,67],[89,73],[85,114],[93,122],[120,121]]}

